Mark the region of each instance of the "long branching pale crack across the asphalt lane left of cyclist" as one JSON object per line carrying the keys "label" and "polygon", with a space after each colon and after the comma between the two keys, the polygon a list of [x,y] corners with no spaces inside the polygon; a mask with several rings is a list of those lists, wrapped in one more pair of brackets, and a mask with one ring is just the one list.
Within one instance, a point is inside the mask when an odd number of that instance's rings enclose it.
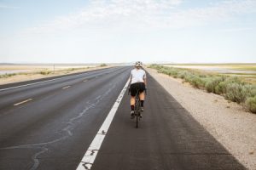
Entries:
{"label": "long branching pale crack across the asphalt lane left of cyclist", "polygon": [[[73,136],[73,126],[75,125],[74,122],[77,122],[79,120],[79,118],[81,118],[82,116],[84,116],[84,114],[87,112],[87,111],[90,111],[90,109],[92,108],[95,108],[97,104],[100,103],[100,101],[105,98],[106,96],[108,96],[108,94],[113,90],[113,88],[116,87],[116,83],[115,84],[112,84],[110,83],[109,84],[111,88],[108,88],[108,90],[102,94],[102,95],[99,95],[97,96],[95,99],[92,99],[91,101],[87,101],[86,104],[87,106],[84,108],[83,111],[79,112],[78,116],[74,116],[73,118],[69,119],[69,121],[67,122],[67,127],[64,127],[61,129],[61,131],[64,131],[67,133],[67,135],[65,136],[62,136],[61,138],[59,139],[54,139],[54,140],[51,140],[49,142],[44,142],[44,143],[38,143],[38,144],[24,144],[24,145],[16,145],[16,146],[9,146],[9,147],[4,147],[4,148],[0,148],[0,150],[14,150],[14,149],[40,149],[40,151],[38,151],[37,153],[35,153],[33,156],[32,156],[32,161],[33,161],[33,165],[32,167],[30,168],[30,170],[36,170],[40,164],[40,161],[38,159],[38,156],[44,154],[44,152],[48,151],[49,149],[47,148],[47,145],[49,144],[54,144],[54,143],[57,143],[61,140],[64,140],[64,139],[67,139],[71,136]],[[84,163],[84,167],[86,169],[90,169],[90,167],[86,167],[85,164],[88,164],[88,163]]]}

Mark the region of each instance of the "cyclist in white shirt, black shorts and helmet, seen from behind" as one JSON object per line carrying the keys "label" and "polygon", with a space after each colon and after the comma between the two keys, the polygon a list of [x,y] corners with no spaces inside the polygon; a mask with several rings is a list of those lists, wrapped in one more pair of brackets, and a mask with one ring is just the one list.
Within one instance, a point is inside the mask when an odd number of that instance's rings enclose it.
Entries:
{"label": "cyclist in white shirt, black shorts and helmet, seen from behind", "polygon": [[[139,98],[141,100],[141,111],[143,111],[144,99],[145,99],[145,89],[146,89],[146,72],[142,68],[143,63],[137,61],[135,68],[131,71],[130,77],[130,91],[131,91],[131,118],[134,118],[134,105],[135,105],[135,95],[137,93],[137,88],[139,89]],[[142,117],[142,114],[141,114]]]}

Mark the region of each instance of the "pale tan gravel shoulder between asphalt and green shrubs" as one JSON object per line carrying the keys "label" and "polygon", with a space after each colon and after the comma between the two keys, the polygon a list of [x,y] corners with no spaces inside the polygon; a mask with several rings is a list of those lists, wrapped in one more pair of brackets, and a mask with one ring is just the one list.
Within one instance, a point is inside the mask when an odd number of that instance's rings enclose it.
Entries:
{"label": "pale tan gravel shoulder between asphalt and green shrubs", "polygon": [[256,169],[256,114],[180,79],[146,71],[248,169]]}

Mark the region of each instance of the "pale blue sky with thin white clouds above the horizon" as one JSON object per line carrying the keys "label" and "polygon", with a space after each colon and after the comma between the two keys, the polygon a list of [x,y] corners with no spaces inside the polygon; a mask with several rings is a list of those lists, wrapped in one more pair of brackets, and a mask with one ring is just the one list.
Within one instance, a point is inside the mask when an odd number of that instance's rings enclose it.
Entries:
{"label": "pale blue sky with thin white clouds above the horizon", "polygon": [[255,0],[0,0],[0,63],[255,63],[255,44]]}

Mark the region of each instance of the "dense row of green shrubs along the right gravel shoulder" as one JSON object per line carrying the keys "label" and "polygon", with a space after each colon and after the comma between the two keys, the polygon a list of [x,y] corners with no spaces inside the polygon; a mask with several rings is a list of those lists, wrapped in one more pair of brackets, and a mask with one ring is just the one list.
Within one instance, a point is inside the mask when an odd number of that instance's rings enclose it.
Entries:
{"label": "dense row of green shrubs along the right gravel shoulder", "polygon": [[244,82],[240,77],[163,65],[149,67],[171,77],[181,78],[183,82],[189,82],[193,87],[207,90],[208,93],[223,95],[225,99],[256,113],[256,84]]}

